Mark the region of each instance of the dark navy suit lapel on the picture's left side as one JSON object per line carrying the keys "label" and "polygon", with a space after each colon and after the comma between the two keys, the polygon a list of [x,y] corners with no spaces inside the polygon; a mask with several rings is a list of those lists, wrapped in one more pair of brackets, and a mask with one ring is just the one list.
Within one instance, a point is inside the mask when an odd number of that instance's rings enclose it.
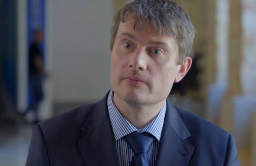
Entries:
{"label": "dark navy suit lapel on the picture's left side", "polygon": [[94,104],[81,128],[79,148],[85,165],[120,165],[108,116],[107,96]]}

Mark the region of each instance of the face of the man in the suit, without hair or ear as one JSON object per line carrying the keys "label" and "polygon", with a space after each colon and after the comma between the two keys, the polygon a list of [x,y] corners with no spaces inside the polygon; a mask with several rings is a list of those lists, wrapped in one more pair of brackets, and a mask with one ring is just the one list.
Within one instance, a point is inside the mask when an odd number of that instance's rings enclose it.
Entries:
{"label": "face of the man in the suit, without hair or ear", "polygon": [[120,22],[111,51],[110,84],[116,95],[130,104],[150,105],[165,100],[181,65],[173,37],[159,35],[152,23],[146,30],[134,17]]}

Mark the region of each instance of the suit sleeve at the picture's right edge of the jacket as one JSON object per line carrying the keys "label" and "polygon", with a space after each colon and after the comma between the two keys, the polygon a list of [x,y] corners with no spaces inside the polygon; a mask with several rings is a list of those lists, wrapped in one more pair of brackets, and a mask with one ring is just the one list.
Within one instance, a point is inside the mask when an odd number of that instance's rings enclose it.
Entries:
{"label": "suit sleeve at the picture's right edge of the jacket", "polygon": [[224,166],[240,166],[234,137],[230,134]]}

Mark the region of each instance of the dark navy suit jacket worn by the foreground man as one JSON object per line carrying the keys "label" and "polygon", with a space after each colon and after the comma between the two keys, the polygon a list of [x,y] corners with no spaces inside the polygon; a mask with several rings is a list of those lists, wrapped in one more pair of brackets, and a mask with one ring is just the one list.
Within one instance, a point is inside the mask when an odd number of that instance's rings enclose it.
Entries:
{"label": "dark navy suit jacket worn by the foreground man", "polygon": [[[36,124],[26,166],[119,166],[107,95]],[[156,166],[238,166],[230,133],[167,102]]]}

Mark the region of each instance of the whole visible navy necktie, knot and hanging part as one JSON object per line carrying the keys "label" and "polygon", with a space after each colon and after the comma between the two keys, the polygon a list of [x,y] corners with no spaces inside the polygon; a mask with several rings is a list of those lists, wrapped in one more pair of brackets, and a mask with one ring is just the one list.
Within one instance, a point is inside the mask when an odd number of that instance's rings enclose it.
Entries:
{"label": "whole visible navy necktie, knot and hanging part", "polygon": [[134,152],[130,165],[150,166],[148,158],[148,149],[152,144],[154,137],[149,133],[132,132],[124,139]]}

